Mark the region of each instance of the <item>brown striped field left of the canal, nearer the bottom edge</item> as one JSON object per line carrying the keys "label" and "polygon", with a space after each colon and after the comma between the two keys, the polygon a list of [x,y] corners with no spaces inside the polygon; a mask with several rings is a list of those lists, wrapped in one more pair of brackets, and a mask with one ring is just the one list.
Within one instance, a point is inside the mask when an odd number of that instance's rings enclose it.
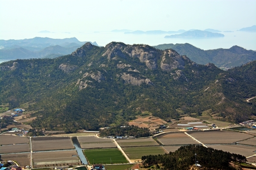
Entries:
{"label": "brown striped field left of the canal, nearer the bottom edge", "polygon": [[34,167],[51,167],[81,164],[79,161],[79,157],[77,156],[76,150],[34,152],[32,154]]}

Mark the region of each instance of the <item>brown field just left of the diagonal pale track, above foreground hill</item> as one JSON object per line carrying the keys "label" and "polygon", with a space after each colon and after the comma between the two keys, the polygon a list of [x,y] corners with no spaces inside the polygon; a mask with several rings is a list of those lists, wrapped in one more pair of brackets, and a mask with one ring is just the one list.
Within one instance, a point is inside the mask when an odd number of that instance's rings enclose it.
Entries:
{"label": "brown field just left of the diagonal pale track, above foreground hill", "polygon": [[171,133],[165,136],[161,136],[157,138],[164,145],[169,144],[198,144],[198,142],[194,141],[192,138],[187,136],[184,133]]}

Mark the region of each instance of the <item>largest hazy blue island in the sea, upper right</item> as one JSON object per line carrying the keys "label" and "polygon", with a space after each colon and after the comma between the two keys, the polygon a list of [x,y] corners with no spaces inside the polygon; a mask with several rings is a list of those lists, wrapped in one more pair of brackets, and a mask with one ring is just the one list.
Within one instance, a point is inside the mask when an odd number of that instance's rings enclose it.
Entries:
{"label": "largest hazy blue island in the sea, upper right", "polygon": [[186,31],[182,34],[166,35],[165,38],[198,38],[198,37],[224,37],[223,34],[213,33],[209,31]]}

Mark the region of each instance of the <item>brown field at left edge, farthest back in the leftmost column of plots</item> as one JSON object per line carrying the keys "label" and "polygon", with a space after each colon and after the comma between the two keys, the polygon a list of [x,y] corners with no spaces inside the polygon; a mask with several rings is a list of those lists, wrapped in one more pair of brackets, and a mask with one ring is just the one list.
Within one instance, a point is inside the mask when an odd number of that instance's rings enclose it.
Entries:
{"label": "brown field at left edge, farthest back in the leftmost column of plots", "polygon": [[15,135],[0,135],[0,145],[29,143],[29,138]]}

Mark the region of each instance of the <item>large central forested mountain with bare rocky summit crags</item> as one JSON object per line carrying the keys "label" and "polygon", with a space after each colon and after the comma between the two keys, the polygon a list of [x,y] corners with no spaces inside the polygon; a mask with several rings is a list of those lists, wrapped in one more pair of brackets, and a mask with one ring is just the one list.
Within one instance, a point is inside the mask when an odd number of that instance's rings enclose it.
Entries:
{"label": "large central forested mountain with bare rocky summit crags", "polygon": [[85,43],[55,59],[0,64],[0,104],[29,105],[36,129],[96,130],[143,113],[165,120],[184,114],[240,122],[256,115],[256,61],[223,71],[172,49]]}

